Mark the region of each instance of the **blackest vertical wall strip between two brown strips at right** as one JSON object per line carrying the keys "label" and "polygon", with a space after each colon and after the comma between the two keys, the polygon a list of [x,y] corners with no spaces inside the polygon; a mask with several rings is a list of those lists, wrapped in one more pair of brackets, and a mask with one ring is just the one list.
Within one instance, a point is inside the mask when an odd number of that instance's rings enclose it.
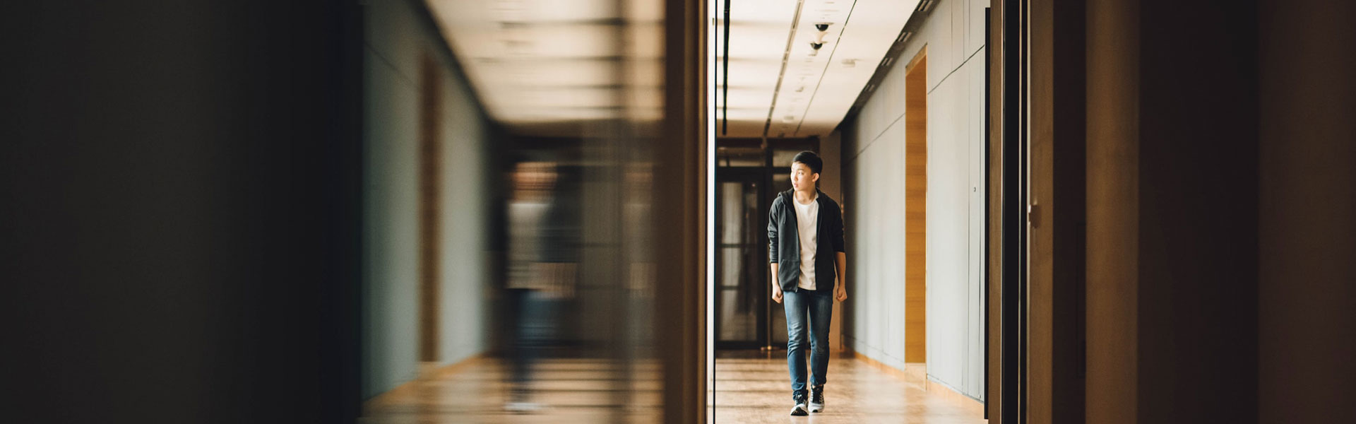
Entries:
{"label": "blackest vertical wall strip between two brown strips at right", "polygon": [[1139,420],[1256,421],[1256,1],[1139,16]]}

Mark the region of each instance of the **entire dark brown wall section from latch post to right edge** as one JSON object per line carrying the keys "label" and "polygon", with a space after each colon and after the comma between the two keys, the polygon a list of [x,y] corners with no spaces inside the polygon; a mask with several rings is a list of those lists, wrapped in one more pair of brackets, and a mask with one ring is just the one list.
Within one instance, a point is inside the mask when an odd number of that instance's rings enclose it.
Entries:
{"label": "entire dark brown wall section from latch post to right edge", "polygon": [[1088,5],[1088,421],[1347,417],[1352,5]]}

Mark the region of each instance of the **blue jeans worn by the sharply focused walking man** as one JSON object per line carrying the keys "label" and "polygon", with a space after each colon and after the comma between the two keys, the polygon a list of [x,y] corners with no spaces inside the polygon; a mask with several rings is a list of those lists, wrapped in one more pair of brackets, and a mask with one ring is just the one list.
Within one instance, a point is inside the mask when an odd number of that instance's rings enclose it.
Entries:
{"label": "blue jeans worn by the sharply focused walking man", "polygon": [[834,315],[834,296],[829,291],[793,291],[782,294],[786,310],[786,367],[791,390],[805,391],[805,318],[810,318],[811,386],[829,382],[829,322]]}

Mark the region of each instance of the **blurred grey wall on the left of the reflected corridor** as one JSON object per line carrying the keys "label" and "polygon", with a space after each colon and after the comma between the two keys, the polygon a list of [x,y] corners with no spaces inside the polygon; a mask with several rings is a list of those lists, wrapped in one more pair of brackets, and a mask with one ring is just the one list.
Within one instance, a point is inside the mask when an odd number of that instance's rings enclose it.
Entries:
{"label": "blurred grey wall on the left of the reflected corridor", "polygon": [[419,371],[420,64],[442,79],[442,304],[439,360],[485,349],[485,121],[431,20],[412,1],[365,8],[363,395]]}

